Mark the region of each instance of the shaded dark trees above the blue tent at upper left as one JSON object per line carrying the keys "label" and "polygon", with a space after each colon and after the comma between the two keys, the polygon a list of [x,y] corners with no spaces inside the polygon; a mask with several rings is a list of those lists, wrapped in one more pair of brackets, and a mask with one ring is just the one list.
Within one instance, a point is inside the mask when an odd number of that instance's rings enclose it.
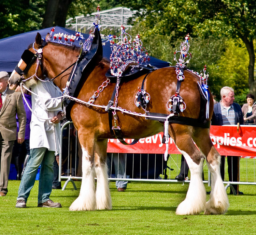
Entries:
{"label": "shaded dark trees above the blue tent at upper left", "polygon": [[119,0],[1,0],[0,38],[53,26],[66,19],[122,5]]}

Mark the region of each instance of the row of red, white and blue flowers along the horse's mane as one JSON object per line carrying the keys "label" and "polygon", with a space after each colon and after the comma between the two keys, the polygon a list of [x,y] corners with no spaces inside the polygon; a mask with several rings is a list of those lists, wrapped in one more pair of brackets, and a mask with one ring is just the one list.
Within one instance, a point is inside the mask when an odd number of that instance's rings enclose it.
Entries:
{"label": "row of red, white and blue flowers along the horse's mane", "polygon": [[[55,27],[51,29],[51,33],[46,37],[46,42],[53,42],[53,43],[59,43],[63,45],[69,45],[72,46],[72,43],[75,40],[79,40],[79,44],[82,45],[82,39],[84,38],[81,33],[76,32],[75,35],[73,34],[67,34],[67,33],[54,33]],[[52,36],[53,34],[53,36]]]}

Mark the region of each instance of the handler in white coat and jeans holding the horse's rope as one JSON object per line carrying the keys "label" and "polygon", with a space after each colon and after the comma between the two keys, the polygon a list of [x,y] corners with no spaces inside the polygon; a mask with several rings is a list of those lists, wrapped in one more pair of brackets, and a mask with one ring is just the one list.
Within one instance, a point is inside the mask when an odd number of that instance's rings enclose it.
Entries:
{"label": "handler in white coat and jeans holding the horse's rope", "polygon": [[32,87],[30,155],[20,182],[16,207],[26,207],[40,165],[38,207],[61,207],[60,203],[49,199],[52,192],[54,154],[60,152],[59,122],[64,118],[61,98],[53,98],[61,95],[52,81],[38,81]]}

